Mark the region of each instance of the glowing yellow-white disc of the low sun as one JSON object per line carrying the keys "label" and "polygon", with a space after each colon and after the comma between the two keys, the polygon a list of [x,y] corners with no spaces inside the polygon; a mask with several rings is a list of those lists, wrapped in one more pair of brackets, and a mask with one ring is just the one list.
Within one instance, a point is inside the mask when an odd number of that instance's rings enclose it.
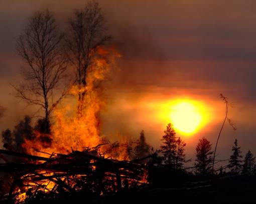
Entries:
{"label": "glowing yellow-white disc of the low sun", "polygon": [[176,101],[171,107],[170,118],[177,131],[190,135],[205,122],[205,110],[196,101]]}

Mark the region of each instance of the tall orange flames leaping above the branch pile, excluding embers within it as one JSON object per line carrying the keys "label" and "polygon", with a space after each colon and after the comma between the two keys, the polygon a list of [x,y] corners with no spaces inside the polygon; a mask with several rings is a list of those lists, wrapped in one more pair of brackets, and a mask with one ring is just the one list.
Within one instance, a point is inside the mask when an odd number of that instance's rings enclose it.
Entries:
{"label": "tall orange flames leaping above the branch pile, excluding embers within it", "polygon": [[[71,97],[65,98],[53,111],[54,121],[49,135],[51,145],[44,145],[38,139],[27,140],[23,146],[28,152],[40,154],[34,151],[36,148],[48,153],[66,153],[101,143],[99,113],[106,103],[101,83],[120,55],[113,48],[106,47],[99,47],[95,52],[96,57],[87,69],[86,85],[72,85],[69,89]],[[85,92],[82,100],[78,99],[79,92]],[[41,133],[36,135],[39,138]]]}

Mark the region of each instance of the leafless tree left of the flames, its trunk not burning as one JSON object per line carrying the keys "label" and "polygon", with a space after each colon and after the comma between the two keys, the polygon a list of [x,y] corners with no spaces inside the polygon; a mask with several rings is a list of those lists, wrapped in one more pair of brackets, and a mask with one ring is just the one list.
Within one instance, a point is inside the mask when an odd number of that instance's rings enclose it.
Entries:
{"label": "leafless tree left of the flames, its trunk not burning", "polygon": [[35,13],[17,39],[17,51],[27,66],[22,68],[25,80],[13,85],[16,96],[44,109],[46,131],[49,131],[49,114],[64,96],[63,92],[50,102],[54,96],[53,90],[60,87],[65,76],[63,39],[63,33],[48,10]]}

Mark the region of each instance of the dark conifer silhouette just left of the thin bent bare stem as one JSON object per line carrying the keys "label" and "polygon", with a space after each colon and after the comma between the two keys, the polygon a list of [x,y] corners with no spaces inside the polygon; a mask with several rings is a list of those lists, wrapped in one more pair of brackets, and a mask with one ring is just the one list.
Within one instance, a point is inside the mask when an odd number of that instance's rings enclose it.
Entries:
{"label": "dark conifer silhouette just left of the thin bent bare stem", "polygon": [[208,174],[211,171],[212,144],[205,137],[199,139],[196,146],[195,168],[198,174]]}

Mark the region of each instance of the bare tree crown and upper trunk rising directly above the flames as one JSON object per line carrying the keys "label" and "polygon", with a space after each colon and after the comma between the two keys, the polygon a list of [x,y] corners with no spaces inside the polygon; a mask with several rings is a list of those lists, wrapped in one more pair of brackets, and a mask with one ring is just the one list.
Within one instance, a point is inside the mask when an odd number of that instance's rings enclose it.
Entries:
{"label": "bare tree crown and upper trunk rising directly above the flames", "polygon": [[[86,90],[86,72],[90,66],[95,50],[111,39],[106,34],[105,18],[95,1],[87,3],[86,7],[76,10],[69,20],[67,32],[67,56],[75,70],[75,83],[79,86],[78,100],[81,105]],[[78,104],[78,112],[79,112]]]}

